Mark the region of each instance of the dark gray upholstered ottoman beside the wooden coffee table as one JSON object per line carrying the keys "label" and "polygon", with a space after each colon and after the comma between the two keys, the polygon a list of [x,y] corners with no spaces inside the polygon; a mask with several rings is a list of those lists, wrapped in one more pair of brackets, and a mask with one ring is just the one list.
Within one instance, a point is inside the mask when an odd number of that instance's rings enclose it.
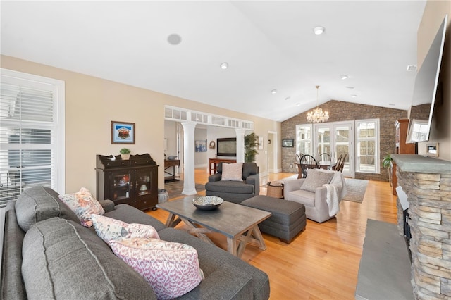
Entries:
{"label": "dark gray upholstered ottoman beside the wooden coffee table", "polygon": [[261,232],[278,237],[282,242],[290,243],[293,237],[305,230],[307,219],[304,204],[259,195],[242,201],[241,205],[273,213],[259,224],[259,228]]}

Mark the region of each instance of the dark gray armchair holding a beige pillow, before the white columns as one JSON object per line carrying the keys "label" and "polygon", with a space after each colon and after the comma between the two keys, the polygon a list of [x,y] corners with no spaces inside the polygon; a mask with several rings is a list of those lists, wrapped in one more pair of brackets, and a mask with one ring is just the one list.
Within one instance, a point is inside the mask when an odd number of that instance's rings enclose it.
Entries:
{"label": "dark gray armchair holding a beige pillow, before the white columns", "polygon": [[206,196],[218,196],[225,201],[240,204],[260,193],[260,174],[257,163],[243,163],[242,181],[221,181],[223,163],[219,163],[218,173],[209,176],[205,184]]}

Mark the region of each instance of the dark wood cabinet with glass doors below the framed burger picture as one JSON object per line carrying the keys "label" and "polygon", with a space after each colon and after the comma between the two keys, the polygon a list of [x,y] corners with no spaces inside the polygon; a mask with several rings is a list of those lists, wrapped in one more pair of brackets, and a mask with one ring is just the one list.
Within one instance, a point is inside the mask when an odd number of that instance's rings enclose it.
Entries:
{"label": "dark wood cabinet with glass doors below the framed burger picture", "polygon": [[121,156],[97,155],[97,199],[129,204],[138,209],[158,204],[158,165],[149,154]]}

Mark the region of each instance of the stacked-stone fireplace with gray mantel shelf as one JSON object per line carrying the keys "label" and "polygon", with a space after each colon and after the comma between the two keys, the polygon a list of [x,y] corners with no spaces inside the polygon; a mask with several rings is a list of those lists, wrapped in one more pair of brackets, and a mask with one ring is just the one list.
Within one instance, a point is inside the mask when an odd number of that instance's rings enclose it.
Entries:
{"label": "stacked-stone fireplace with gray mantel shelf", "polygon": [[[451,298],[451,162],[393,154],[397,184],[407,194],[416,299]],[[398,200],[399,202],[399,200]],[[398,204],[398,231],[404,234]]]}

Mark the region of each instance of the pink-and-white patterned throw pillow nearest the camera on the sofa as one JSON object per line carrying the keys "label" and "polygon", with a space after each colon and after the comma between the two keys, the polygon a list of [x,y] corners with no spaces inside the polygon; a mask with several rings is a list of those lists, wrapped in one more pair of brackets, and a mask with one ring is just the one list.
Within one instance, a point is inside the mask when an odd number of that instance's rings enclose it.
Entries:
{"label": "pink-and-white patterned throw pillow nearest the camera on the sofa", "polygon": [[149,282],[158,299],[182,296],[204,279],[192,246],[149,237],[111,240],[108,244]]}

